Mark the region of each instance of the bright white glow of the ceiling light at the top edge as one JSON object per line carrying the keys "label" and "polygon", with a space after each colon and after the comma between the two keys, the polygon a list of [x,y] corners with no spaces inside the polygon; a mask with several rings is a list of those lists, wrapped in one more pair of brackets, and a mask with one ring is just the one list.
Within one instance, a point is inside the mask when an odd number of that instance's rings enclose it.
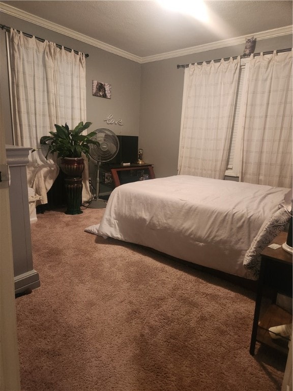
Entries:
{"label": "bright white glow of the ceiling light at the top edge", "polygon": [[208,20],[208,9],[202,0],[157,0],[157,2],[170,11],[191,15],[201,21]]}

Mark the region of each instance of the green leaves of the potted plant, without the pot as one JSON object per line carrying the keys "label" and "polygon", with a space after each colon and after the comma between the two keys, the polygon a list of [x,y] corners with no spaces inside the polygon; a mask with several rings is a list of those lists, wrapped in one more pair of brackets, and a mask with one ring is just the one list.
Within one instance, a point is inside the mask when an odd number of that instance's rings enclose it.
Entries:
{"label": "green leaves of the potted plant, without the pot", "polygon": [[91,139],[96,132],[93,131],[89,134],[81,134],[85,129],[89,128],[92,122],[79,122],[79,124],[70,130],[67,123],[65,126],[55,124],[55,132],[49,132],[50,136],[42,136],[40,138],[41,145],[48,145],[48,154],[57,153],[57,157],[81,157],[81,153],[84,153],[88,158],[90,154],[90,145],[94,144],[99,146],[100,143]]}

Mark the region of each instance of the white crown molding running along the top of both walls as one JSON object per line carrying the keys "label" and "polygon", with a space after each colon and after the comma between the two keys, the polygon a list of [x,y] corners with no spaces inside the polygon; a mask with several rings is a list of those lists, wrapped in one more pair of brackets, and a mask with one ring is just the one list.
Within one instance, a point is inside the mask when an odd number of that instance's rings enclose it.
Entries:
{"label": "white crown molding running along the top of both walls", "polygon": [[226,39],[226,40],[222,40],[222,41],[211,42],[211,43],[204,44],[204,45],[187,47],[185,49],[174,50],[174,51],[170,51],[170,52],[166,52],[166,53],[150,55],[148,57],[139,57],[135,54],[121,50],[115,46],[111,46],[111,45],[108,45],[102,41],[98,41],[97,39],[91,38],[91,37],[86,36],[84,34],[77,33],[74,30],[67,29],[66,27],[61,26],[60,24],[50,22],[49,20],[42,19],[36,15],[30,14],[30,13],[22,11],[18,8],[12,7],[6,3],[0,2],[0,11],[6,13],[8,15],[12,15],[16,18],[26,20],[27,22],[37,24],[41,27],[45,27],[46,29],[52,30],[56,33],[60,33],[65,36],[68,36],[70,38],[74,38],[78,41],[87,43],[91,46],[95,46],[95,47],[98,47],[102,50],[109,51],[113,54],[117,54],[120,57],[124,57],[128,60],[137,62],[139,64],[145,64],[145,63],[150,63],[150,62],[160,61],[160,60],[167,60],[167,59],[171,59],[171,58],[175,58],[175,57],[181,57],[181,56],[187,55],[187,54],[194,54],[194,53],[199,53],[202,51],[208,51],[208,50],[220,49],[220,48],[227,47],[227,46],[239,45],[239,44],[243,44],[243,42],[245,42],[245,39],[247,37],[253,36],[257,40],[262,40],[262,39],[279,37],[279,36],[283,36],[283,35],[289,35],[289,34],[292,34],[292,32],[293,32],[293,26],[289,25],[289,26],[285,26],[285,27],[280,27],[279,29],[267,30],[267,31],[263,31],[260,33],[247,34],[242,37],[236,37],[236,38]]}

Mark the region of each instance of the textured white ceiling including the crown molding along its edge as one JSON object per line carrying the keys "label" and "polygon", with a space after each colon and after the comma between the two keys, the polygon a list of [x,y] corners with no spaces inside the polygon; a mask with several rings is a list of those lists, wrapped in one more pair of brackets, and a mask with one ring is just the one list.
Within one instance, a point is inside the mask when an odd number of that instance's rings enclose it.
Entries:
{"label": "textured white ceiling including the crown molding along its edge", "polygon": [[0,9],[138,62],[245,44],[245,38],[266,38],[275,29],[275,35],[292,32],[292,1],[205,3],[207,23],[147,0],[3,1]]}

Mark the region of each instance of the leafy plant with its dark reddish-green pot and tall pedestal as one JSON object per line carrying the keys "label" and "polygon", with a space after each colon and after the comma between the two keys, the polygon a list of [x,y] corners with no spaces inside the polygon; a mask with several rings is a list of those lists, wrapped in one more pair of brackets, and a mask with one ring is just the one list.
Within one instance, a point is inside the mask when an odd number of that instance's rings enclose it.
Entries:
{"label": "leafy plant with its dark reddish-green pot and tall pedestal", "polygon": [[49,132],[50,136],[42,136],[40,139],[41,145],[47,145],[48,154],[57,153],[57,158],[61,158],[60,167],[66,175],[65,187],[67,194],[67,211],[66,214],[80,214],[82,210],[81,194],[82,194],[82,179],[81,175],[84,170],[84,161],[82,154],[89,158],[90,146],[99,146],[100,143],[94,141],[91,137],[95,135],[95,131],[86,135],[81,134],[85,129],[89,128],[92,122],[80,122],[73,130],[69,129],[67,123],[63,125],[55,124],[55,132]]}

